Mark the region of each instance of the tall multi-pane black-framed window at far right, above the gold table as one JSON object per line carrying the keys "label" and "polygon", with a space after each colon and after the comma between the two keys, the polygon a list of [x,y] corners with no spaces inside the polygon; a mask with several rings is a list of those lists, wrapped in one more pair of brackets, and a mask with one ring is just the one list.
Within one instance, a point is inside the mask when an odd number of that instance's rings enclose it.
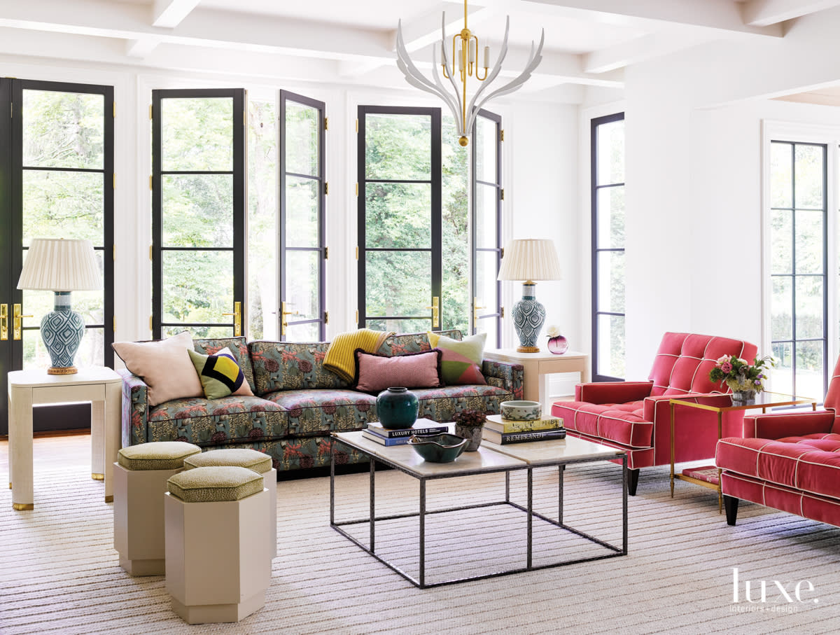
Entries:
{"label": "tall multi-pane black-framed window at far right, above the gold table", "polygon": [[770,143],[770,339],[773,390],[827,388],[827,146]]}

